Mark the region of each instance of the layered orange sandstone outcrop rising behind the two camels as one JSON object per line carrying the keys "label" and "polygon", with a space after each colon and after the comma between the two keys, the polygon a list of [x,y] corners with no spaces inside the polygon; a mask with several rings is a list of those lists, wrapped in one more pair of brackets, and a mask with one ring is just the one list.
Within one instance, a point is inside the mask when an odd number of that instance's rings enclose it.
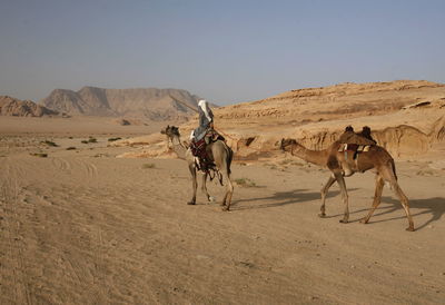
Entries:
{"label": "layered orange sandstone outcrop rising behind the two camels", "polygon": [[[310,149],[324,149],[347,125],[356,130],[369,126],[373,137],[394,157],[423,155],[445,141],[445,85],[431,81],[298,89],[214,112],[216,128],[225,134],[237,159],[277,156],[277,142],[286,137]],[[196,125],[195,117],[180,126],[182,135],[188,135]],[[155,145],[164,138],[154,135],[145,140]],[[137,142],[144,139],[138,138]],[[150,147],[144,154],[164,156],[159,145]]]}

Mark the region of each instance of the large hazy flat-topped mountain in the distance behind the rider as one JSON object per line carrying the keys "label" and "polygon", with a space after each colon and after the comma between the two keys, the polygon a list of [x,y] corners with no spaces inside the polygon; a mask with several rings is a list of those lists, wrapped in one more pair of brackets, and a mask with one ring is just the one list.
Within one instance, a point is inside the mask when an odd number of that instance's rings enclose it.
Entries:
{"label": "large hazy flat-topped mountain in the distance behind the rider", "polygon": [[79,91],[56,89],[39,104],[75,116],[171,120],[195,115],[187,106],[197,108],[198,100],[199,97],[179,89],[83,87]]}

